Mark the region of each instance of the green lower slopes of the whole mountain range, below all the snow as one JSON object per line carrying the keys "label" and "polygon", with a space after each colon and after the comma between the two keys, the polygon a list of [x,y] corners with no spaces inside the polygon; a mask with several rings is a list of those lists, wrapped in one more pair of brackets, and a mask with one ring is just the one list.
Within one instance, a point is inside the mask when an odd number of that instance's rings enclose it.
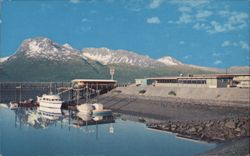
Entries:
{"label": "green lower slopes of the whole mountain range, below all the snow", "polygon": [[72,79],[109,79],[109,67],[115,68],[114,79],[119,83],[134,82],[135,78],[204,74],[209,71],[187,66],[146,68],[127,64],[105,66],[95,61],[77,60],[53,62],[18,57],[2,65],[0,81],[70,81]]}

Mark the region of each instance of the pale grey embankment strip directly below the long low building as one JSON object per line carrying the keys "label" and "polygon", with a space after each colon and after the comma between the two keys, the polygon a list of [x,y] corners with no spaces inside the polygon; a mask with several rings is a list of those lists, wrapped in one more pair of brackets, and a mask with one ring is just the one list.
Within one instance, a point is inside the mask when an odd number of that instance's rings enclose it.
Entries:
{"label": "pale grey embankment strip directly below the long low building", "polygon": [[[179,88],[179,87],[154,87],[154,86],[130,86],[118,87],[122,94],[139,95],[140,90],[146,92],[143,96],[174,97],[193,100],[238,101],[249,103],[250,89],[243,88]],[[174,92],[176,95],[169,94]]]}

